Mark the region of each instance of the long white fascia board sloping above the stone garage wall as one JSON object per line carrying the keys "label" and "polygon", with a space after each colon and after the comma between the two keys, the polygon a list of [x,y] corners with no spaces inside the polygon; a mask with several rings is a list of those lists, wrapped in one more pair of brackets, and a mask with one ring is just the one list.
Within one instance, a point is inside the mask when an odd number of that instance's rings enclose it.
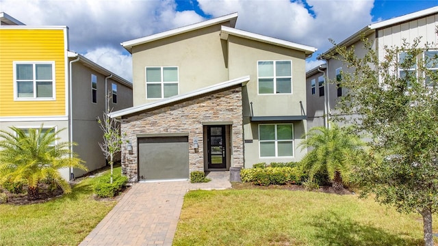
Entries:
{"label": "long white fascia board sloping above the stone garage wall", "polygon": [[170,103],[173,102],[178,102],[180,100],[185,100],[187,98],[192,98],[194,96],[200,96],[202,94],[207,94],[210,92],[215,92],[217,90],[223,90],[225,88],[234,86],[234,85],[239,85],[242,84],[242,86],[246,85],[246,83],[248,83],[248,81],[250,80],[249,76],[245,76],[245,77],[240,77],[237,79],[232,79],[230,81],[225,81],[222,83],[218,83],[216,85],[211,85],[209,87],[204,87],[198,90],[194,90],[192,92],[186,93],[186,94],[181,94],[181,95],[177,95],[177,96],[172,96],[170,98],[164,98],[162,100],[159,100],[157,102],[149,102],[146,103],[144,105],[138,105],[136,107],[130,107],[127,109],[122,109],[119,111],[114,111],[112,113],[110,113],[110,118],[118,118],[121,117],[123,115],[129,115],[131,113],[137,113],[146,109],[153,109],[155,107],[159,107],[159,106],[163,106],[163,105],[168,105]]}

